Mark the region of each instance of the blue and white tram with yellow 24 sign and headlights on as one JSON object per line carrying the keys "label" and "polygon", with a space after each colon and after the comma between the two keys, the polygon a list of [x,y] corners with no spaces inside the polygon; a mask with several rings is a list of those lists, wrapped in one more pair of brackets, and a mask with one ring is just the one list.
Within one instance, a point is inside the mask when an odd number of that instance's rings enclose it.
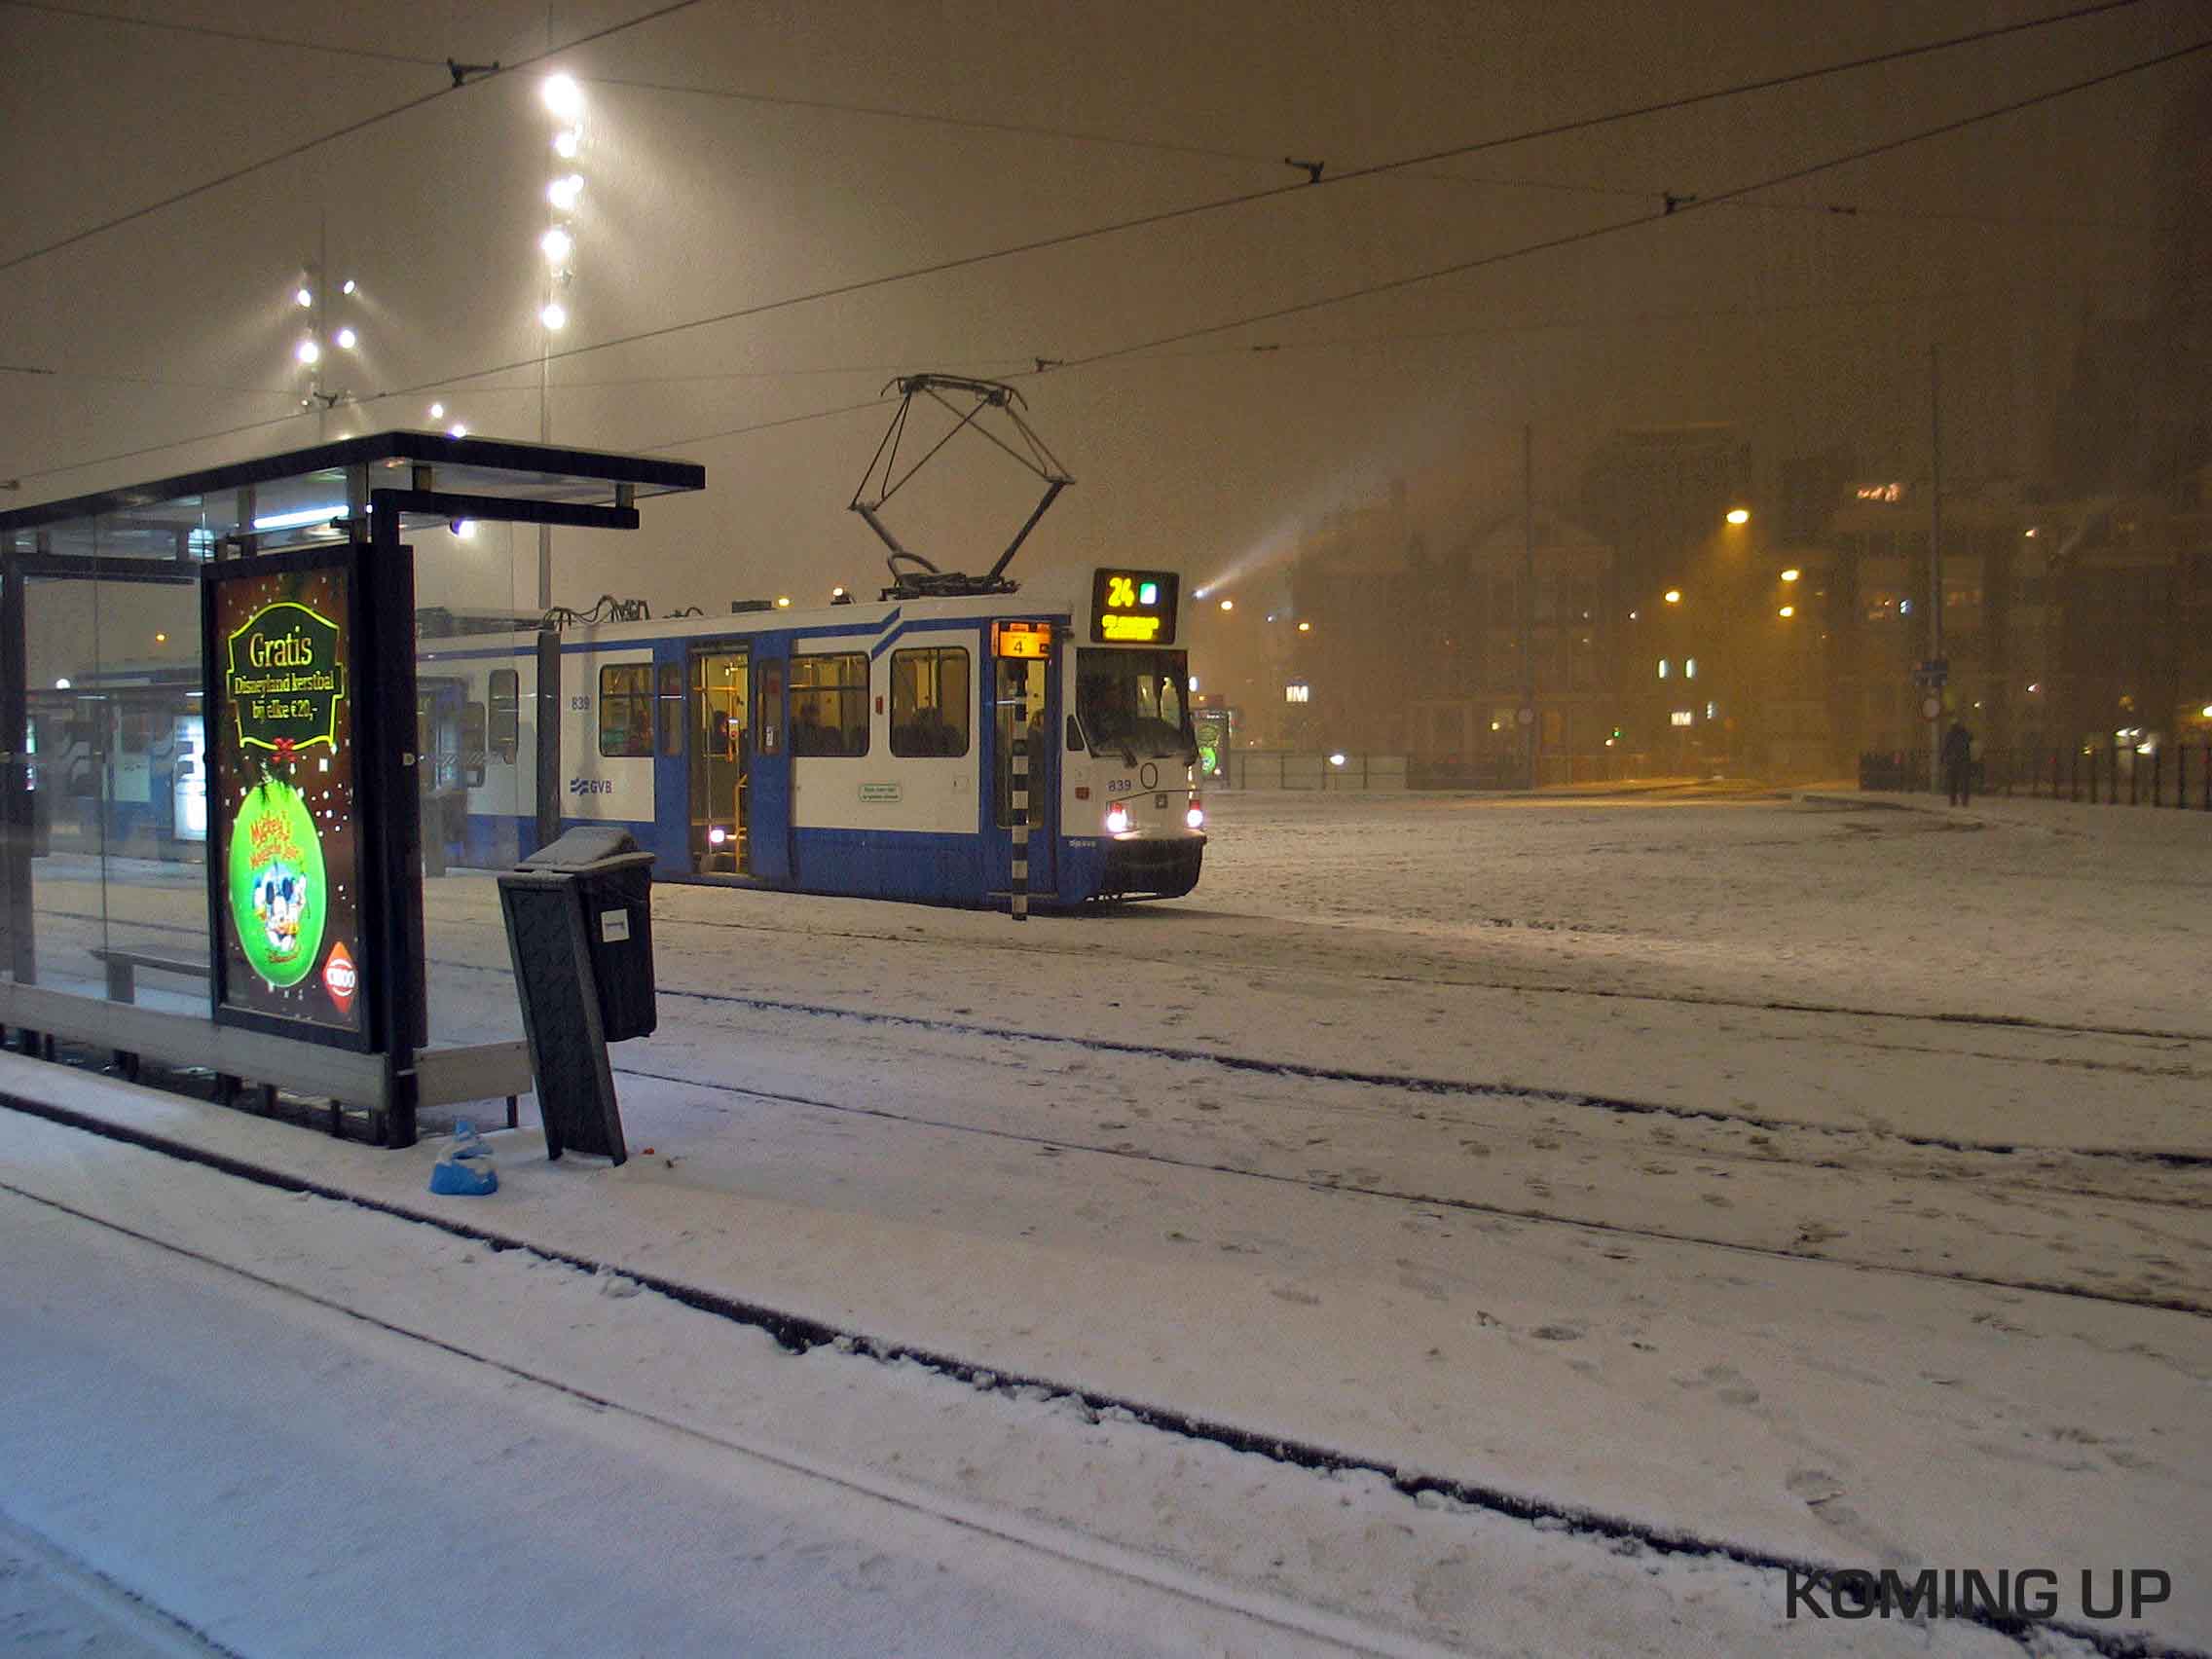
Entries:
{"label": "blue and white tram with yellow 24 sign and headlights on", "polygon": [[[989,905],[1009,891],[1029,739],[1037,905],[1199,880],[1179,577],[617,622],[560,637],[562,827],[619,825],[661,880]],[[425,639],[425,838],[449,863],[535,845],[538,635]],[[462,810],[465,803],[465,810]]]}

